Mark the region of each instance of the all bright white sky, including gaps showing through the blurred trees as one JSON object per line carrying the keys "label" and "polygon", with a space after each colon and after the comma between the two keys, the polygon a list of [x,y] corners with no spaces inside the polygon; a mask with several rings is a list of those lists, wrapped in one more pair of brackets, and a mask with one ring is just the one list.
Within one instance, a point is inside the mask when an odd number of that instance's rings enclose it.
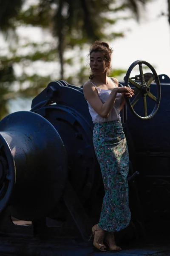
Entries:
{"label": "all bright white sky, including gaps showing through the blurred trees", "polygon": [[[34,3],[35,0],[29,1],[30,3]],[[134,61],[143,59],[155,67],[158,75],[166,74],[170,76],[170,25],[167,16],[162,16],[161,13],[167,14],[167,0],[153,0],[141,12],[139,23],[135,20],[127,20],[123,22],[119,21],[114,26],[114,31],[124,30],[125,37],[109,42],[113,48],[113,69],[121,68],[127,70]],[[44,35],[41,35],[39,29],[32,29],[31,31],[18,29],[18,33],[20,35],[29,34],[35,41],[44,38]],[[50,40],[50,37],[46,36],[46,38]],[[85,49],[84,54],[86,56],[88,55],[88,49],[87,51]],[[31,72],[31,68],[28,67],[28,69]],[[54,67],[53,64],[48,64],[48,69],[54,70],[55,73],[57,67]],[[34,67],[37,73],[40,73],[40,70],[43,70],[43,73],[48,73],[48,69],[46,67],[42,69],[38,64]],[[132,76],[139,74],[139,72],[136,72],[134,70]],[[30,100],[11,102],[11,112],[20,110],[29,111],[30,109]]]}

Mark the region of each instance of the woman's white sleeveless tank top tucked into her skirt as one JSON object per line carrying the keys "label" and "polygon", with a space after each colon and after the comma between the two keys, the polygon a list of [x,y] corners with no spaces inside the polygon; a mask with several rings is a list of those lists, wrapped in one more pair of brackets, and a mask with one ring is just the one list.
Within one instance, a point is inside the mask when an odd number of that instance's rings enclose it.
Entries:
{"label": "woman's white sleeveless tank top tucked into her skirt", "polygon": [[[91,82],[91,81],[89,81],[89,82]],[[113,83],[114,83],[114,81],[113,81]],[[109,95],[111,94],[111,90],[102,89],[102,88],[97,87],[94,83],[92,83],[92,84],[97,89],[98,96],[101,99],[102,103],[105,103],[107,101]],[[115,86],[116,86],[116,84],[115,84]],[[115,103],[113,105],[113,108],[112,108],[111,112],[108,115],[108,118],[103,118],[103,117],[99,116],[98,113],[96,113],[96,111],[91,107],[90,103],[87,101],[88,109],[89,109],[89,112],[91,114],[93,122],[98,123],[98,122],[108,122],[108,121],[120,120],[121,118],[120,118],[119,106],[120,106],[121,102],[122,102],[122,94],[117,93]]]}

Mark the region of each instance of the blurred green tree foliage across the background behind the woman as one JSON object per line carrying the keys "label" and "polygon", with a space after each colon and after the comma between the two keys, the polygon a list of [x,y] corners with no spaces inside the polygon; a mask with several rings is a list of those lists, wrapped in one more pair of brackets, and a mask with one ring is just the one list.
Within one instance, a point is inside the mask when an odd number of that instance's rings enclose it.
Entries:
{"label": "blurred green tree foliage across the background behind the woman", "polygon": [[[144,5],[147,1],[37,0],[30,6],[26,5],[26,0],[0,0],[0,30],[6,39],[13,38],[8,45],[8,55],[0,51],[0,118],[8,113],[10,99],[34,97],[54,80],[52,75],[28,74],[27,68],[34,70],[37,61],[60,64],[60,75],[57,71],[55,80],[65,79],[80,86],[84,84],[89,76],[85,60],[79,57],[79,70],[75,77],[74,72],[71,75],[64,72],[66,68],[74,70],[75,56],[66,57],[64,53],[73,50],[81,56],[82,50],[95,40],[111,41],[123,37],[124,31],[114,32],[114,26],[120,19],[135,17],[138,20],[139,3]],[[132,15],[123,15],[125,10],[130,10]],[[28,38],[24,44],[20,43],[19,27],[41,28],[44,42],[33,43]],[[53,35],[50,42],[45,40],[46,32]],[[16,65],[20,66],[19,75],[14,72]],[[119,77],[124,73],[125,70],[114,70],[111,76]]]}

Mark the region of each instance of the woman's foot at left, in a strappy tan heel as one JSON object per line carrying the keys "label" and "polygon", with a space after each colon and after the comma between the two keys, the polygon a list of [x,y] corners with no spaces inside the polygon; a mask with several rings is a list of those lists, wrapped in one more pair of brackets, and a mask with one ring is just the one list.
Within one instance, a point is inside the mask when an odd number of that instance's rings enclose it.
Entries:
{"label": "woman's foot at left, in a strappy tan heel", "polygon": [[98,224],[94,225],[94,227],[92,227],[91,230],[94,235],[94,242],[93,242],[94,247],[96,247],[97,249],[103,252],[106,252],[107,247],[103,243],[105,239],[105,230],[102,230]]}

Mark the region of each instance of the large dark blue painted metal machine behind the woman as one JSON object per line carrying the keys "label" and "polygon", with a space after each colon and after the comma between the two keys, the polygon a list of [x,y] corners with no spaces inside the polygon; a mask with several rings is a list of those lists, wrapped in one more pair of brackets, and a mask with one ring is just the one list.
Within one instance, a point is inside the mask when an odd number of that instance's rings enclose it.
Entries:
{"label": "large dark blue painted metal machine behind the woman", "polygon": [[[123,125],[130,160],[133,172],[139,172],[140,178],[135,182],[131,180],[129,186],[133,225],[130,224],[123,234],[117,234],[116,239],[123,237],[133,241],[136,236],[141,236],[144,233],[141,215],[152,235],[156,230],[156,235],[159,231],[163,236],[164,227],[170,224],[170,79],[165,75],[160,75],[159,79],[162,98],[159,110],[152,119],[138,119],[129,109],[124,113]],[[124,85],[124,81],[119,83]],[[154,83],[150,85],[150,90],[155,93]],[[147,107],[153,109],[153,102],[148,101]],[[142,102],[137,102],[135,108],[143,113]],[[74,240],[80,234],[85,239],[90,221],[96,223],[104,193],[92,143],[93,123],[82,88],[66,81],[51,82],[33,99],[30,112],[21,111],[7,116],[0,122],[0,131],[0,185],[5,177],[6,187],[9,187],[9,193],[4,193],[7,196],[4,215],[0,215],[0,252],[8,255],[12,251],[18,256],[101,254],[92,244]],[[11,160],[15,165],[11,164]],[[10,172],[4,172],[6,163],[11,166]],[[10,215],[30,219],[33,224],[31,227],[15,227],[11,224]],[[47,219],[57,226],[51,224],[52,227],[49,227]],[[14,233],[27,234],[26,241],[13,240]],[[74,245],[64,243],[62,237],[74,241]],[[44,240],[51,242],[45,244]],[[168,246],[156,248],[154,244],[149,249],[126,249],[119,255],[161,256],[169,255],[169,250]]]}

